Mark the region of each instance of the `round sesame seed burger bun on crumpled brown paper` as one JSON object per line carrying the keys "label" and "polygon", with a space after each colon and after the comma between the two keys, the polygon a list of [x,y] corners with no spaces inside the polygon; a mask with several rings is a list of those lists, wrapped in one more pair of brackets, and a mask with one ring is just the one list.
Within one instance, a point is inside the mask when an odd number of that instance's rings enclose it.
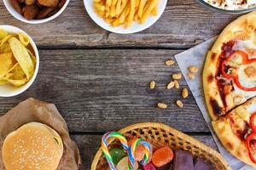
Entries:
{"label": "round sesame seed burger bun on crumpled brown paper", "polygon": [[54,129],[30,122],[9,133],[3,142],[7,170],[56,170],[63,154],[61,137]]}

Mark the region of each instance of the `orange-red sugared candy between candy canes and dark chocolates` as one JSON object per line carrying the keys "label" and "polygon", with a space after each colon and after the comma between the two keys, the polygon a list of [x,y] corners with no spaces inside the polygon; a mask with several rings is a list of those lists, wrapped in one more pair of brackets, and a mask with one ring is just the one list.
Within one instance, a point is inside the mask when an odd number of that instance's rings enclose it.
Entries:
{"label": "orange-red sugared candy between candy canes and dark chocolates", "polygon": [[152,162],[155,167],[162,167],[172,161],[173,152],[169,147],[162,147],[155,150],[152,156]]}

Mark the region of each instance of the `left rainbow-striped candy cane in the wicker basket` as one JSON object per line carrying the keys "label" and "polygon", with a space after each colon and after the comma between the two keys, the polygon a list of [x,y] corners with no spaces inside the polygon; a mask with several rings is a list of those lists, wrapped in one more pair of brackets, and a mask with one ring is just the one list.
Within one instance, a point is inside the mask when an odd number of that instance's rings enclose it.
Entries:
{"label": "left rainbow-striped candy cane in the wicker basket", "polygon": [[128,148],[127,140],[125,139],[123,134],[118,133],[118,132],[109,132],[109,133],[105,133],[103,135],[103,137],[102,137],[102,152],[108,161],[108,165],[109,165],[110,169],[116,170],[116,167],[113,164],[113,158],[111,157],[111,155],[108,151],[108,139],[109,138],[119,139],[119,141],[122,144],[125,151],[127,151],[129,148]]}

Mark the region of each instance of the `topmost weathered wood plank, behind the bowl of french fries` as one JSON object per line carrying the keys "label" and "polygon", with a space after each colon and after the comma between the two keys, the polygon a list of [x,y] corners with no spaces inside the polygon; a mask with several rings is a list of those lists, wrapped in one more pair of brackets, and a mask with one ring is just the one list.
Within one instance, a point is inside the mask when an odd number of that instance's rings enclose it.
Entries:
{"label": "topmost weathered wood plank, behind the bowl of french fries", "polygon": [[27,31],[40,48],[155,47],[189,48],[217,36],[236,16],[207,10],[196,0],[169,0],[154,26],[131,35],[104,31],[90,19],[82,0],[71,0],[57,19],[40,25],[16,20],[0,2],[0,25]]}

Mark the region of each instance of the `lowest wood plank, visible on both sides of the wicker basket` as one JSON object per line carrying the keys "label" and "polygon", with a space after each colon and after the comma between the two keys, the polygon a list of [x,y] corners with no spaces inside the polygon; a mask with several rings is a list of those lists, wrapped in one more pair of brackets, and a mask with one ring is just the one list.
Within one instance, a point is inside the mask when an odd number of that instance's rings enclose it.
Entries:
{"label": "lowest wood plank, visible on both sides of the wicker basket", "polygon": [[[207,144],[214,150],[218,150],[212,136],[201,135],[193,136],[195,139],[200,140],[202,143]],[[80,154],[83,158],[83,164],[79,169],[90,169],[91,161],[93,160],[96,151],[100,147],[101,136],[100,135],[72,135],[79,145]]]}

